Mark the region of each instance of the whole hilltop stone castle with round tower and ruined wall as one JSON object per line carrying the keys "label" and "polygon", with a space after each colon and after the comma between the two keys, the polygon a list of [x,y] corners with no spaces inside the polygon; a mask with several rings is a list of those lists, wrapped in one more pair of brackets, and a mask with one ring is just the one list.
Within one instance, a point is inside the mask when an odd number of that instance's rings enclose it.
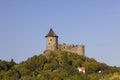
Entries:
{"label": "whole hilltop stone castle with round tower and ruined wall", "polygon": [[46,37],[46,50],[63,50],[68,52],[77,53],[78,55],[84,56],[84,45],[73,45],[73,44],[58,44],[58,36],[55,32],[50,29]]}

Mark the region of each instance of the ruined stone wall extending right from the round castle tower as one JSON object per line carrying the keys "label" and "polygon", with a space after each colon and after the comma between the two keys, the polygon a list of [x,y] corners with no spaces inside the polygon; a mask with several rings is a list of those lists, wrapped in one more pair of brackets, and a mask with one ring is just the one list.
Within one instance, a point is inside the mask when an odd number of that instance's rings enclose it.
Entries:
{"label": "ruined stone wall extending right from the round castle tower", "polygon": [[84,56],[84,45],[74,45],[74,44],[59,44],[58,49],[68,52],[77,53]]}

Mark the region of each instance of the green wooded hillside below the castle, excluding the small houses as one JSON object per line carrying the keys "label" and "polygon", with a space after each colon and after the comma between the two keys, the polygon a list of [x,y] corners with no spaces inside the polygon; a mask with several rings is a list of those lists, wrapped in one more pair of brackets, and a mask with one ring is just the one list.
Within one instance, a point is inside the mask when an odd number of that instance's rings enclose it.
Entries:
{"label": "green wooded hillside below the castle, excluding the small houses", "polygon": [[[78,72],[79,66],[86,68],[85,74]],[[70,52],[45,51],[19,64],[0,60],[0,80],[120,80],[120,68]]]}

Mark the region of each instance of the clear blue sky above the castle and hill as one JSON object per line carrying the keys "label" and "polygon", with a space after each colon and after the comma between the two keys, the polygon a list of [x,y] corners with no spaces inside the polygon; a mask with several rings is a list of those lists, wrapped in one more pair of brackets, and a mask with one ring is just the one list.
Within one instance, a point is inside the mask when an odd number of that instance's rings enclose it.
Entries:
{"label": "clear blue sky above the castle and hill", "polygon": [[87,57],[120,66],[120,0],[0,0],[0,59],[40,55],[50,28],[59,43],[83,44]]}

